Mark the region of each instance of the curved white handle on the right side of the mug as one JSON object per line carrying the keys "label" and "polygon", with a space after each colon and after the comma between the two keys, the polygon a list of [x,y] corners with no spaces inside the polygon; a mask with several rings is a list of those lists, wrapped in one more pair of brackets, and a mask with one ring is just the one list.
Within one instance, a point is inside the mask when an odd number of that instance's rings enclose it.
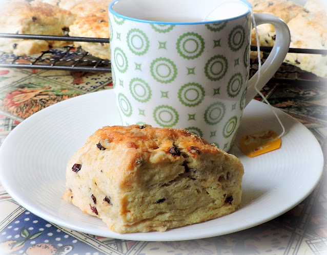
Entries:
{"label": "curved white handle on the right side of the mug", "polygon": [[280,18],[267,13],[254,13],[254,18],[257,26],[265,23],[269,23],[274,26],[276,31],[276,41],[268,58],[261,65],[260,79],[258,80],[258,72],[256,72],[248,82],[245,102],[246,106],[257,94],[255,89],[257,80],[257,88],[261,90],[263,86],[271,79],[271,77],[273,77],[284,61],[284,58],[289,51],[291,42],[289,27]]}

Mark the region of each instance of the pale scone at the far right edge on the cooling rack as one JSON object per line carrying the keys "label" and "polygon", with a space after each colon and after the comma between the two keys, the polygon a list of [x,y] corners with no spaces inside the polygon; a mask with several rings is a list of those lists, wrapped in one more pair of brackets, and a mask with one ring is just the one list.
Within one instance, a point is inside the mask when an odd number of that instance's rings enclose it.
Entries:
{"label": "pale scone at the far right edge on the cooling rack", "polygon": [[[289,24],[291,48],[327,50],[327,16],[321,12],[298,15]],[[284,62],[327,78],[327,56],[288,53]]]}

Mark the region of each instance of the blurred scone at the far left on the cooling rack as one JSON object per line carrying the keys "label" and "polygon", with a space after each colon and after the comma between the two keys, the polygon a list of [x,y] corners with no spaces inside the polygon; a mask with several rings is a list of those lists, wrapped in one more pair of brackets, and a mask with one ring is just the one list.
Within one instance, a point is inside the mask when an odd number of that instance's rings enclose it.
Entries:
{"label": "blurred scone at the far left on the cooling rack", "polygon": [[[32,35],[66,35],[75,16],[67,10],[39,1],[4,1],[0,9],[0,32]],[[0,51],[32,55],[71,42],[0,39]]]}

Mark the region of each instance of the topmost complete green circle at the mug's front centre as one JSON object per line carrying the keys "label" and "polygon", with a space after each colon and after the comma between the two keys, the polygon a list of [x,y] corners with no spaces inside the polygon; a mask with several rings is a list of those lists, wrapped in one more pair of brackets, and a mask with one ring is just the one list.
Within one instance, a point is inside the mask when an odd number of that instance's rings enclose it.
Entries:
{"label": "topmost complete green circle at the mug's front centre", "polygon": [[176,49],[181,57],[195,59],[203,53],[205,41],[199,34],[191,32],[185,33],[178,38]]}

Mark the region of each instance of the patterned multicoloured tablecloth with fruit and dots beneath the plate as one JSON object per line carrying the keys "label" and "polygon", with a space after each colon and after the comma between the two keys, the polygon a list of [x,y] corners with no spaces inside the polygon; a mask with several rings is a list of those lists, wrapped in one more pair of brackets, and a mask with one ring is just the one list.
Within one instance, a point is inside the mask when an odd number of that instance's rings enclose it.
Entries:
{"label": "patterned multicoloured tablecloth with fruit and dots beneath the plate", "polygon": [[[110,73],[0,69],[0,145],[31,114],[65,99],[111,88]],[[262,91],[273,106],[309,128],[326,156],[326,85],[270,82]],[[234,234],[175,242],[78,233],[25,210],[0,184],[0,254],[327,254],[326,169],[309,197],[276,219]]]}

